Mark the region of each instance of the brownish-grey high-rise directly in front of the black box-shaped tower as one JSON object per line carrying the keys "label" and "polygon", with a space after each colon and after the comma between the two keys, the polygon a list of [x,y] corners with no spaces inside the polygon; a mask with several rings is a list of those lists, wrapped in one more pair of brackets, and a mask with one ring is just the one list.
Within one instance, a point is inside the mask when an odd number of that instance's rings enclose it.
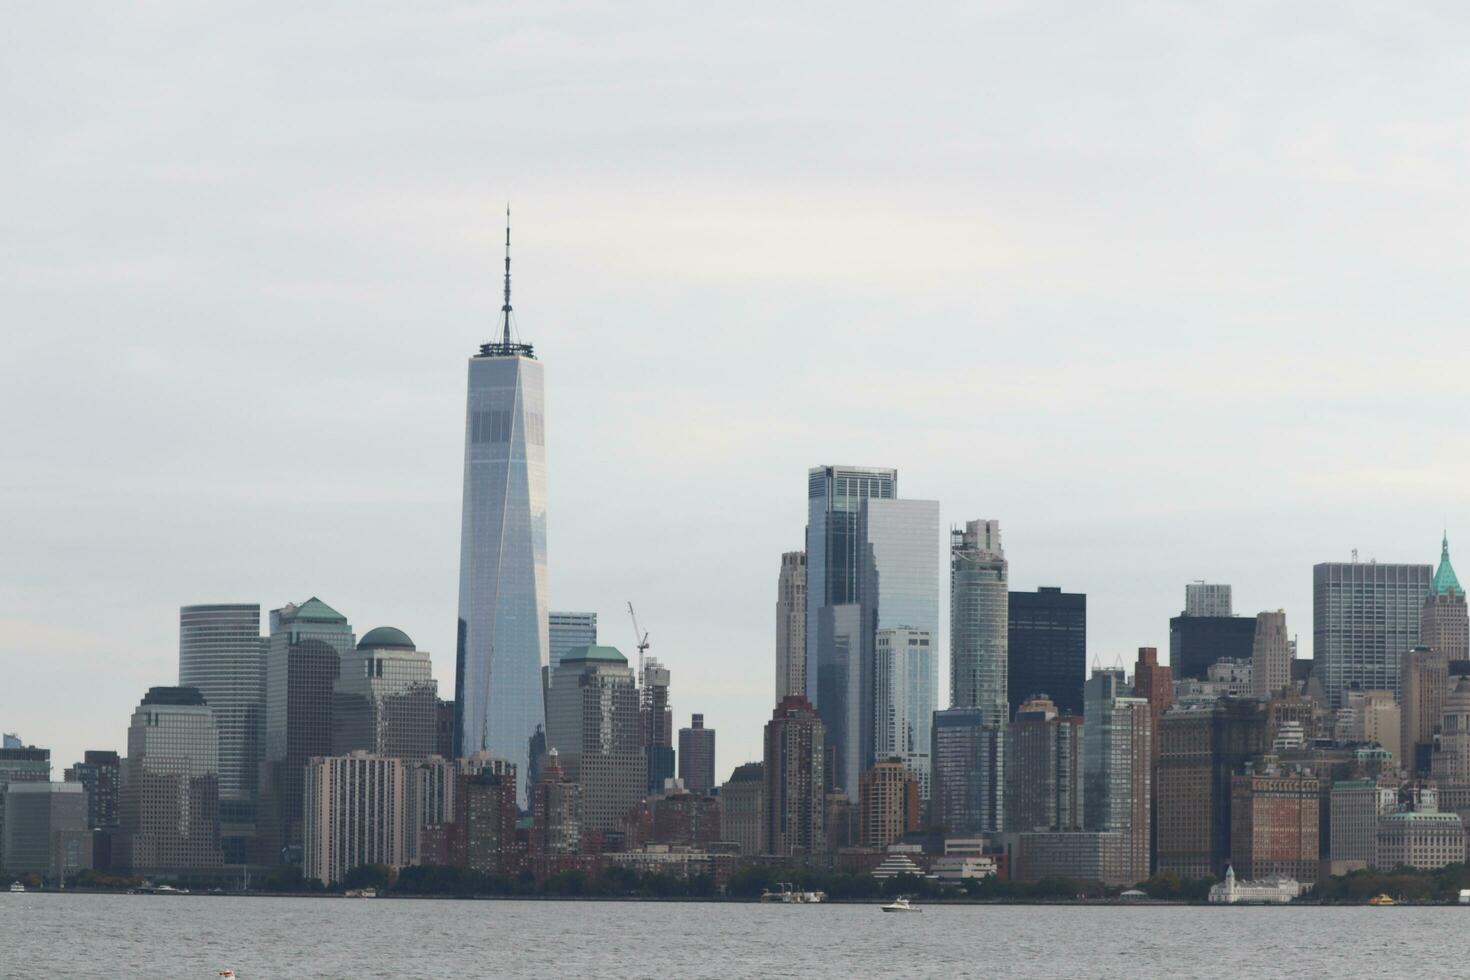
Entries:
{"label": "brownish-grey high-rise directly in front of the black box-shaped tower", "polygon": [[1005,736],[1005,830],[1080,829],[1082,716],[1026,701]]}

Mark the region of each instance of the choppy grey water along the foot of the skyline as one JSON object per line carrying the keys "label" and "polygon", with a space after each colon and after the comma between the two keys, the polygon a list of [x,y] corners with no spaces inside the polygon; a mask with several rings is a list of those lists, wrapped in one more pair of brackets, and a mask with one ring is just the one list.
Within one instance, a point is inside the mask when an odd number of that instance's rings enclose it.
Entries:
{"label": "choppy grey water along the foot of the skyline", "polygon": [[3,977],[1466,974],[1470,909],[0,893]]}

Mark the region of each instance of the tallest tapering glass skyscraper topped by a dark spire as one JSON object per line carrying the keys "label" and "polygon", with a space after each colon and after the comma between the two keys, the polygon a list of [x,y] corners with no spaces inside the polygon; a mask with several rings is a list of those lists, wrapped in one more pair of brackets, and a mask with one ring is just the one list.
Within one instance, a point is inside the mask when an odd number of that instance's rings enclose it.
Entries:
{"label": "tallest tapering glass skyscraper topped by a dark spire", "polygon": [[547,478],[541,361],[512,336],[510,209],[500,339],[469,361],[460,526],[456,751],[516,764],[526,802],[531,739],[545,723]]}

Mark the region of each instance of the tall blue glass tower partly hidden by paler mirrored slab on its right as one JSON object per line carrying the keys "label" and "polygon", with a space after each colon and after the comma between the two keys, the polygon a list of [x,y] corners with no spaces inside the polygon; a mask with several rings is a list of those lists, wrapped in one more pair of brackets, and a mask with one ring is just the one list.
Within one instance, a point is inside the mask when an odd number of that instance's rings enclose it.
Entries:
{"label": "tall blue glass tower partly hidden by paler mirrored slab on its right", "polygon": [[872,654],[873,623],[861,605],[863,501],[897,497],[897,470],[817,466],[807,472],[806,696],[826,726],[833,777],[851,793],[872,732],[872,664],[864,657]]}

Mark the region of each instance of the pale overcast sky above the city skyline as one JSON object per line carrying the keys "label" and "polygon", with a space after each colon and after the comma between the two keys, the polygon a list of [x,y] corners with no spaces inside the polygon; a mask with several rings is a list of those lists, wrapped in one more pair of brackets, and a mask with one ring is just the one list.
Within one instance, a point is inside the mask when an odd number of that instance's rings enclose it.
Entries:
{"label": "pale overcast sky above the city skyline", "polygon": [[1308,654],[1313,563],[1470,561],[1463,4],[794,6],[9,4],[0,729],[125,749],[191,602],[451,695],[507,200],[551,608],[632,599],[722,777],[813,464],[1000,519],[1104,663],[1191,579]]}

